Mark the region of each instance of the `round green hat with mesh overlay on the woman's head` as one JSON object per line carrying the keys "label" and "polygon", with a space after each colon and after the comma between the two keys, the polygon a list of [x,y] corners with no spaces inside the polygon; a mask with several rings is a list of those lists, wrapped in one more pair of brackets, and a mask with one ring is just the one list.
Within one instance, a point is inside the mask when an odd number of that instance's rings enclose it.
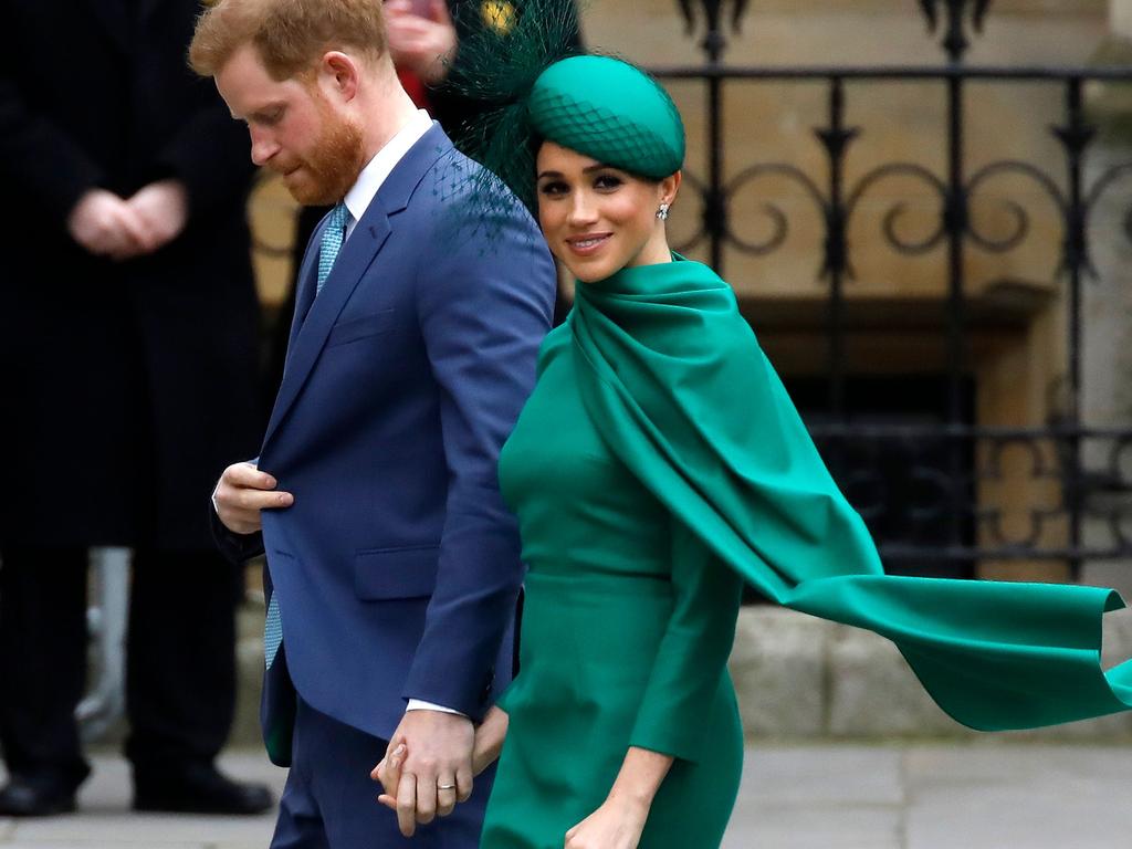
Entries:
{"label": "round green hat with mesh overlay on the woman's head", "polygon": [[535,80],[528,113],[537,136],[607,165],[653,180],[684,165],[684,123],[672,98],[619,59],[555,62]]}

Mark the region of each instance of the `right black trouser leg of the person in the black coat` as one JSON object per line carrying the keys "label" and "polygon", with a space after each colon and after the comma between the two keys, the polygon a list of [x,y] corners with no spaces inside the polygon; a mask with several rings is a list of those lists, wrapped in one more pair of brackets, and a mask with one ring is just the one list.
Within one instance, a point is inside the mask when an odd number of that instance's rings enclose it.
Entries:
{"label": "right black trouser leg of the person in the black coat", "polygon": [[137,772],[211,763],[228,739],[241,578],[218,552],[135,554],[126,755]]}

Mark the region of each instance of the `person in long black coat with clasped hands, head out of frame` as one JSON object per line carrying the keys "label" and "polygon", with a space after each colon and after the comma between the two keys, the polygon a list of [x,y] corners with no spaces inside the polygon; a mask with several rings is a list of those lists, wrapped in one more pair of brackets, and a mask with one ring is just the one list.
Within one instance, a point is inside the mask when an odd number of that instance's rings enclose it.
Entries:
{"label": "person in long black coat with clasped hands, head out of frame", "polygon": [[0,816],[89,767],[91,546],[135,550],[135,807],[255,813],[213,762],[242,575],[207,514],[258,441],[245,131],[187,67],[198,0],[0,0]]}

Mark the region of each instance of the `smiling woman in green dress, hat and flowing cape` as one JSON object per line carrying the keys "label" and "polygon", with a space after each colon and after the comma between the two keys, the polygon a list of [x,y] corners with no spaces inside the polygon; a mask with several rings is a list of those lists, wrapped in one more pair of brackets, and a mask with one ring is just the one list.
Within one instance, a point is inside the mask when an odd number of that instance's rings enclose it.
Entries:
{"label": "smiling woman in green dress, hat and flowing cape", "polygon": [[669,249],[684,130],[658,84],[573,57],[523,114],[534,166],[501,171],[577,284],[500,456],[530,573],[520,675],[477,732],[478,769],[501,749],[482,849],[719,846],[744,581],[891,638],[972,728],[1129,707],[1132,664],[1099,667],[1115,593],[884,575],[731,289]]}

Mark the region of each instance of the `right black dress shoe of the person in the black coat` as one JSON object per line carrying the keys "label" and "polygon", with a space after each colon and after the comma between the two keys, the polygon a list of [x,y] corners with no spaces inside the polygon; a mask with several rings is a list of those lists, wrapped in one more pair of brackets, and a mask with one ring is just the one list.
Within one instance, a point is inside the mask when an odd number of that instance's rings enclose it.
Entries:
{"label": "right black dress shoe of the person in the black coat", "polygon": [[261,814],[275,804],[265,784],[233,781],[212,764],[134,771],[134,809],[174,814]]}

